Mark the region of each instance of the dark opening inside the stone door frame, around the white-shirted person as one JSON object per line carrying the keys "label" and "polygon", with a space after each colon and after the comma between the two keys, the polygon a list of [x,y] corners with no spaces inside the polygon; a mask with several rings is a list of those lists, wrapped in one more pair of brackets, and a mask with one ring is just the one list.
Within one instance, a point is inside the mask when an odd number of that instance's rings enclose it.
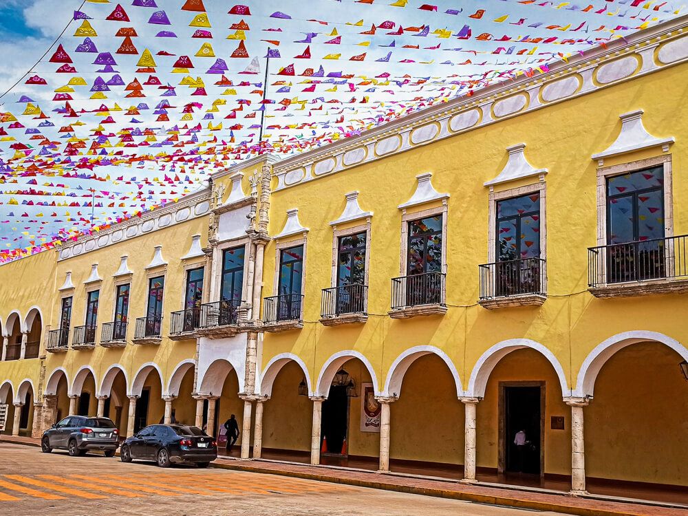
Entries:
{"label": "dark opening inside the stone door frame, around the white-shirted person", "polygon": [[[504,465],[507,472],[541,473],[541,404],[540,386],[504,387]],[[521,431],[525,436],[517,435]]]}

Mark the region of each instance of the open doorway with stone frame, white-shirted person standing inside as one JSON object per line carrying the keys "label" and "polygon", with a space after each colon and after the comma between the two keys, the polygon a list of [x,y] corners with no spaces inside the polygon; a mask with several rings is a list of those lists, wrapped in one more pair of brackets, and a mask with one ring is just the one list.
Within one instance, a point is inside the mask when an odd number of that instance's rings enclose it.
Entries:
{"label": "open doorway with stone frame, white-shirted person standing inside", "polygon": [[499,472],[544,472],[544,382],[502,382]]}

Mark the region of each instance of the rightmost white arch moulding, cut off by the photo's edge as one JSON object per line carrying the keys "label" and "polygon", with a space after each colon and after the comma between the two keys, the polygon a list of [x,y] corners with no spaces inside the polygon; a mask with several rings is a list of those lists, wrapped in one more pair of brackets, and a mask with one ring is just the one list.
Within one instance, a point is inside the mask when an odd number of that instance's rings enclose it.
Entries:
{"label": "rightmost white arch moulding, cut off by the photo's edge", "polygon": [[630,332],[619,333],[597,345],[594,350],[585,357],[583,365],[581,365],[581,369],[579,369],[578,372],[574,396],[592,396],[595,380],[597,379],[600,369],[602,369],[602,366],[605,365],[614,353],[623,350],[624,347],[631,344],[648,341],[667,345],[682,356],[683,360],[688,361],[688,349],[674,338],[666,336],[665,334],[645,330],[632,330]]}

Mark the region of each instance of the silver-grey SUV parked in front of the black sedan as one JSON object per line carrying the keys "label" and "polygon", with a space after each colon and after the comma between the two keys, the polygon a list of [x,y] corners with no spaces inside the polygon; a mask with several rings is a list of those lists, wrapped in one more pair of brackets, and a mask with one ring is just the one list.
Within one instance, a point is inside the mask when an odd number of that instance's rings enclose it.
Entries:
{"label": "silver-grey SUV parked in front of the black sedan", "polygon": [[41,439],[43,453],[66,449],[72,457],[89,450],[100,450],[112,457],[118,446],[119,431],[108,418],[68,416],[43,432]]}

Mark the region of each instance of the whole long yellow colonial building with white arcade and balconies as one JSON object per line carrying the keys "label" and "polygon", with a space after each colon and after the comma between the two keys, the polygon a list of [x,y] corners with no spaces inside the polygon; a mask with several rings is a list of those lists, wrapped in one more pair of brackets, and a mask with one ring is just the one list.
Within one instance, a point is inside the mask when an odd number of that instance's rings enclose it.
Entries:
{"label": "whole long yellow colonial building with white arcade and balconies", "polygon": [[242,458],[685,486],[687,28],[2,266],[5,432],[235,413]]}

